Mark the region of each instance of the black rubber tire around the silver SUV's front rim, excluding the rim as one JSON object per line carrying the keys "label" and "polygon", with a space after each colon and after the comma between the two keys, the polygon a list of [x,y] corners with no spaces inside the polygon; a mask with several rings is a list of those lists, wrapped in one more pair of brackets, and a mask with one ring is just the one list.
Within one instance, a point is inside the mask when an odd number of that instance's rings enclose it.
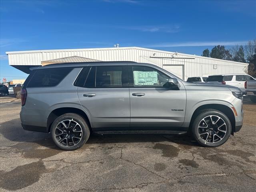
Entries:
{"label": "black rubber tire around the silver SUV's front rim, excluding the rim", "polygon": [[[224,120],[224,122],[226,123],[226,126],[227,126],[226,135],[224,136],[224,138],[220,142],[217,142],[217,143],[207,143],[207,142],[205,142],[200,137],[199,132],[198,132],[198,126],[199,126],[201,120],[204,117],[210,116],[210,115],[219,116],[220,118],[222,118]],[[224,144],[228,140],[228,138],[230,137],[231,130],[232,130],[232,126],[231,126],[231,123],[230,123],[230,120],[228,119],[228,117],[225,114],[223,114],[222,112],[217,111],[217,110],[212,110],[212,111],[209,110],[209,111],[204,111],[204,112],[200,113],[198,115],[198,117],[195,119],[195,121],[193,123],[193,127],[192,127],[193,136],[196,139],[196,141],[199,144],[201,144],[203,146],[206,146],[206,147],[217,147],[217,146],[220,146],[220,145]]]}

